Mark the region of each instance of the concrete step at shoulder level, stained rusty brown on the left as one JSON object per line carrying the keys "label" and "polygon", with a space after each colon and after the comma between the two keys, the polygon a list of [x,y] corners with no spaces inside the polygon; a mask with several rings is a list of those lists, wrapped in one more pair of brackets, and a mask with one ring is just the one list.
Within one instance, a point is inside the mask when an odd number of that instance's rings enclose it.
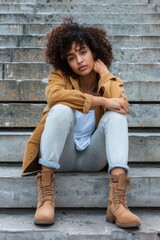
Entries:
{"label": "concrete step at shoulder level, stained rusty brown on the left", "polygon": [[[42,102],[46,101],[45,87],[48,79],[42,80],[0,80],[1,102]],[[160,81],[124,82],[125,94],[129,101],[159,102]],[[134,89],[134,91],[133,91]]]}

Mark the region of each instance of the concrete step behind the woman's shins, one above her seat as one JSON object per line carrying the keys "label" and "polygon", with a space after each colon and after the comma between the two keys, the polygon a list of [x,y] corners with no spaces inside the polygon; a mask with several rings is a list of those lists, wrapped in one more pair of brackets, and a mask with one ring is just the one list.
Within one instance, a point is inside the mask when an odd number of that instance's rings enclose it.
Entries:
{"label": "concrete step behind the woman's shins, one above her seat", "polygon": [[[30,135],[31,132],[24,132],[24,130],[0,132],[0,162],[21,163]],[[129,162],[159,163],[159,145],[160,133],[129,132]]]}

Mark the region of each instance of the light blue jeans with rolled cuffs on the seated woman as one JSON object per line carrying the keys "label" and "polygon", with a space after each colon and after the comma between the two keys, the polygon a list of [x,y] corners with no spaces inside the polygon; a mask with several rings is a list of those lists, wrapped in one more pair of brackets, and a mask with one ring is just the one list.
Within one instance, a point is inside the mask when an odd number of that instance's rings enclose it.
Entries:
{"label": "light blue jeans with rolled cuffs on the seated woman", "polygon": [[90,145],[75,148],[74,111],[57,104],[49,111],[40,143],[39,163],[57,172],[108,171],[121,167],[128,171],[128,124],[125,115],[107,111],[95,130]]}

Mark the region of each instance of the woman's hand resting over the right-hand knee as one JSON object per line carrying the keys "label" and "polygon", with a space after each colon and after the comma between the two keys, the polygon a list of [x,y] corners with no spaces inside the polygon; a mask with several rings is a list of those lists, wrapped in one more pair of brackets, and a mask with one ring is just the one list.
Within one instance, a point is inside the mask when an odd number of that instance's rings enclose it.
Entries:
{"label": "woman's hand resting over the right-hand knee", "polygon": [[125,98],[105,98],[103,107],[121,114],[128,113],[128,101]]}

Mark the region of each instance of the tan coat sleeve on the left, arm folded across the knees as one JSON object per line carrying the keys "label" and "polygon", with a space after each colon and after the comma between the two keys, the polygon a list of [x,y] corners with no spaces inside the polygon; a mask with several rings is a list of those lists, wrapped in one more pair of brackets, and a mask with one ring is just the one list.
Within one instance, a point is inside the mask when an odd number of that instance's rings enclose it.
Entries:
{"label": "tan coat sleeve on the left, arm folded across the knees", "polygon": [[[68,89],[67,80],[60,72],[52,72],[45,90],[49,108],[57,103],[87,113],[92,104],[92,96],[76,89]],[[71,83],[70,83],[71,84]]]}

